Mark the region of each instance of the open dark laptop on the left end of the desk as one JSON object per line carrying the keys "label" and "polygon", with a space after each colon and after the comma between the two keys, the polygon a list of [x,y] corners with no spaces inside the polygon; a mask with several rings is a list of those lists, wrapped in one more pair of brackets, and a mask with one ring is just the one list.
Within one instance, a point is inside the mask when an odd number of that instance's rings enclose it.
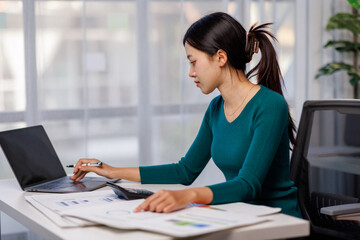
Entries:
{"label": "open dark laptop on the left end of the desk", "polygon": [[79,182],[72,181],[42,125],[0,132],[0,146],[24,191],[84,192],[119,180],[85,177]]}

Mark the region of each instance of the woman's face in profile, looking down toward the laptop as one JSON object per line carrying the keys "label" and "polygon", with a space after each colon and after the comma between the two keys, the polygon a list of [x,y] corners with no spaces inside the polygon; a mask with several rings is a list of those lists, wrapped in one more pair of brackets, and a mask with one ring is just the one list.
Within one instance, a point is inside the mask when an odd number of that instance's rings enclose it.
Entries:
{"label": "woman's face in profile, looking down toward the laptop", "polygon": [[194,83],[204,94],[214,91],[219,85],[221,69],[216,57],[185,43],[185,52],[190,61],[189,76],[194,78]]}

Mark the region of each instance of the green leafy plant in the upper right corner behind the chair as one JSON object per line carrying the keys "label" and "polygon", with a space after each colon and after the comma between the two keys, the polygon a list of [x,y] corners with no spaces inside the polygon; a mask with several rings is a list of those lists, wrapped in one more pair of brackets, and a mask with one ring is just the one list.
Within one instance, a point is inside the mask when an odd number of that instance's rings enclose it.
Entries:
{"label": "green leafy plant in the upper right corner behind the chair", "polygon": [[350,52],[353,53],[352,63],[346,62],[331,62],[322,66],[315,78],[319,78],[324,75],[331,75],[338,71],[346,71],[349,82],[353,86],[353,97],[359,97],[359,81],[360,81],[360,71],[358,57],[360,52],[360,43],[358,42],[358,36],[360,34],[360,16],[358,9],[360,8],[360,3],[358,0],[348,0],[352,5],[352,13],[337,13],[329,19],[329,22],[326,26],[327,31],[335,29],[345,29],[352,33],[352,40],[330,40],[328,41],[324,48],[334,47],[336,51],[340,53]]}

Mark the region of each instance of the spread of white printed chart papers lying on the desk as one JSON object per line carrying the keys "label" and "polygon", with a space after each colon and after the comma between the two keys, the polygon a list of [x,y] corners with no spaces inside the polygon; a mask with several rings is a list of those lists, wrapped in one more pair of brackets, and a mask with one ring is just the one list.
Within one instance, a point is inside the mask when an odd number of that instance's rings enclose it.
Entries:
{"label": "spread of white printed chart papers lying on the desk", "polygon": [[[259,217],[279,212],[280,208],[245,203],[195,205],[172,213],[133,210],[144,200],[125,201],[112,191],[70,194],[45,194],[27,197],[44,214],[56,214],[72,226],[102,224],[119,229],[142,229],[175,237],[190,237],[214,231],[256,224],[269,219]],[[39,206],[41,206],[39,208]],[[48,211],[44,212],[43,209]],[[63,222],[59,226],[69,226]]]}

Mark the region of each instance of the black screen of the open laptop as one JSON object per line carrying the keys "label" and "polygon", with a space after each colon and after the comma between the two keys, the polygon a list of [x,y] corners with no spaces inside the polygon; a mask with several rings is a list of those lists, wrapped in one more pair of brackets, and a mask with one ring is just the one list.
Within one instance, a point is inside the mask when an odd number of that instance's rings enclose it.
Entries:
{"label": "black screen of the open laptop", "polygon": [[0,145],[22,189],[66,176],[43,126],[0,132]]}

